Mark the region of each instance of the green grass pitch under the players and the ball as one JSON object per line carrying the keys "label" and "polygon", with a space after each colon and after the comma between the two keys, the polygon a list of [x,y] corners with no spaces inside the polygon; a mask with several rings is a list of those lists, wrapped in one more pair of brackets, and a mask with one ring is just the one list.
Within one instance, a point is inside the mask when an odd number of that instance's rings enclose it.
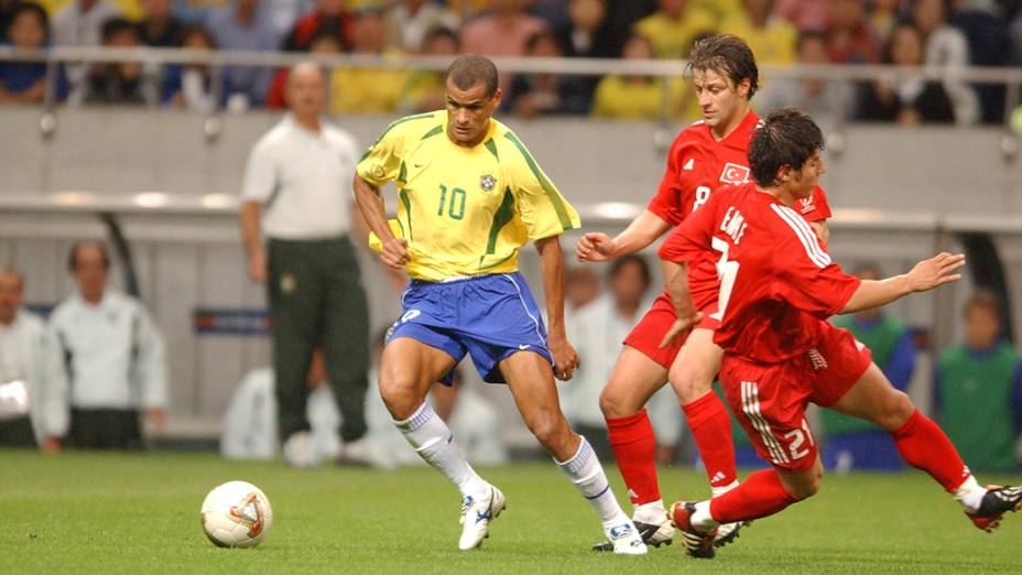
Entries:
{"label": "green grass pitch under the players and the ball", "polygon": [[[214,455],[0,452],[0,573],[1022,572],[1022,513],[982,533],[917,471],[828,476],[818,496],[757,521],[713,561],[684,555],[677,538],[644,557],[590,552],[599,523],[552,464],[481,473],[509,508],[482,549],[465,553],[459,498],[425,467],[303,471]],[[622,496],[617,470],[609,475]],[[203,498],[230,479],[260,486],[273,505],[259,547],[218,549],[202,532]],[[688,469],[664,470],[661,488],[668,501],[707,492]]]}

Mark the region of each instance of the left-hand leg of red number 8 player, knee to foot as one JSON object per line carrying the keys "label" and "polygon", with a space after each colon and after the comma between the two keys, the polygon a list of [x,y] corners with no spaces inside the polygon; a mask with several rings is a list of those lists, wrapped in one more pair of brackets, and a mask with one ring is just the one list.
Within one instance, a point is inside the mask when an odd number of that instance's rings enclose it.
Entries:
{"label": "left-hand leg of red number 8 player, knee to foot", "polygon": [[600,393],[610,446],[633,506],[632,520],[646,543],[655,546],[670,542],[674,529],[665,520],[656,481],[656,437],[644,408],[666,381],[665,367],[626,345]]}

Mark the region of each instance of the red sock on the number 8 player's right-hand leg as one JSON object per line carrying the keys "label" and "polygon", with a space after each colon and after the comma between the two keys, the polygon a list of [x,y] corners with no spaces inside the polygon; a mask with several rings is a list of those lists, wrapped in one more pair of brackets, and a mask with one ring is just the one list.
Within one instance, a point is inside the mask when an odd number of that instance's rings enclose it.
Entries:
{"label": "red sock on the number 8 player's right-hand leg", "polygon": [[702,398],[682,405],[692,437],[706,465],[710,487],[730,485],[738,477],[735,470],[735,446],[731,444],[731,417],[724,402],[709,391]]}

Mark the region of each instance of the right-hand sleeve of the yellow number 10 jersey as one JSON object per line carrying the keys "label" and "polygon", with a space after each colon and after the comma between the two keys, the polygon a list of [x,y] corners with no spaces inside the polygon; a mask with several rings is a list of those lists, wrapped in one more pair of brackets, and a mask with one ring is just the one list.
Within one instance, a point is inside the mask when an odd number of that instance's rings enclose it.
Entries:
{"label": "right-hand sleeve of the yellow number 10 jersey", "polygon": [[510,176],[515,209],[525,225],[529,239],[559,236],[581,227],[578,211],[546,177],[524,144],[512,132],[508,132],[505,138],[517,150],[514,161],[504,169]]}

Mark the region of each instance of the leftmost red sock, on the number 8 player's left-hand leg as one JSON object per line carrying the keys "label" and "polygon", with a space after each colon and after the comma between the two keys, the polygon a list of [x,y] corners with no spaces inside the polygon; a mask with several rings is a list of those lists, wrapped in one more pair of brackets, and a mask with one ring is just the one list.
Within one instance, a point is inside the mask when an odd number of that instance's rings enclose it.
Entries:
{"label": "leftmost red sock, on the number 8 player's left-hand leg", "polygon": [[645,410],[628,417],[608,419],[607,435],[632,505],[659,501],[656,438]]}

